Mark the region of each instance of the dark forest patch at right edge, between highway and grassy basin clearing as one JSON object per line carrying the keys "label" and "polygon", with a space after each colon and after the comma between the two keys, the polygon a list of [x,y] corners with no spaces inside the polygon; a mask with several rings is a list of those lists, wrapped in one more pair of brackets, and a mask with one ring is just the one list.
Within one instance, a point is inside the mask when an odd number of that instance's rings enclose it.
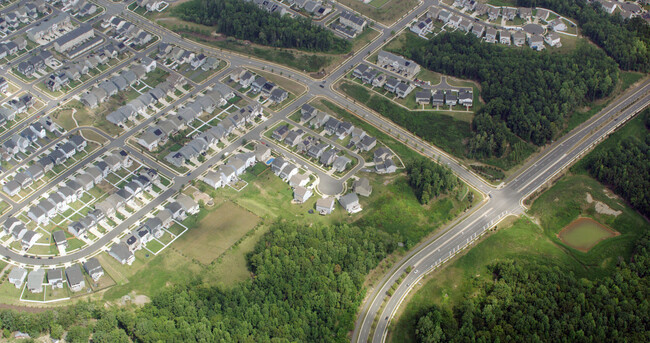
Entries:
{"label": "dark forest patch at right edge, between highway and grassy basin clearing", "polygon": [[650,109],[640,114],[645,135],[623,137],[585,158],[589,174],[608,185],[637,211],[650,217]]}

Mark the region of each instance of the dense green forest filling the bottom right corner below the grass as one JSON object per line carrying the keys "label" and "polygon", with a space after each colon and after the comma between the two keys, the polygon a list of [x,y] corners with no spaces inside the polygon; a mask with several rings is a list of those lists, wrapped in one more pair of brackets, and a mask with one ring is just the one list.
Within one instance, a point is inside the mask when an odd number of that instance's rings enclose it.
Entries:
{"label": "dense green forest filling the bottom right corner below the grass", "polygon": [[650,341],[650,234],[612,277],[579,279],[535,263],[492,265],[477,295],[420,316],[418,342]]}

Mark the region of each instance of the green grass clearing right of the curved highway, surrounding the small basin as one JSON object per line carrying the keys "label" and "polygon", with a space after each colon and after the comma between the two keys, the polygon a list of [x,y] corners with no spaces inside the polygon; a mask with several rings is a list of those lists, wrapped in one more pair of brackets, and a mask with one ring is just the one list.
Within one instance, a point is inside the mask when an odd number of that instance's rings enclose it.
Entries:
{"label": "green grass clearing right of the curved highway, surrounding the small basin", "polygon": [[[622,213],[618,216],[599,214],[595,202],[589,203],[586,193]],[[620,232],[587,252],[576,250],[563,243],[558,233],[578,217],[588,217]],[[579,277],[598,278],[610,275],[619,257],[629,260],[634,242],[650,224],[622,200],[612,197],[596,180],[583,175],[569,175],[532,204],[529,216],[510,217],[497,225],[475,247],[464,252],[451,263],[431,273],[421,282],[406,304],[396,315],[389,333],[389,341],[414,342],[417,318],[422,311],[437,304],[451,306],[475,292],[475,287],[491,280],[488,265],[502,260],[517,263],[537,262],[554,265]],[[576,240],[593,241],[596,236],[588,232],[577,233]]]}

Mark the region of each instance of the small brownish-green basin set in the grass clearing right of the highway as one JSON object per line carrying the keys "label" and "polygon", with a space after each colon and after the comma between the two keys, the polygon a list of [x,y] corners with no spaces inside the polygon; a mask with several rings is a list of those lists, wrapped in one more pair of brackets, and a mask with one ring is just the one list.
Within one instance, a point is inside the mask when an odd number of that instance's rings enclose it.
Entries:
{"label": "small brownish-green basin set in the grass clearing right of the highway", "polygon": [[558,238],[564,244],[582,252],[588,252],[600,241],[615,236],[618,236],[618,232],[591,218],[578,218],[558,233]]}

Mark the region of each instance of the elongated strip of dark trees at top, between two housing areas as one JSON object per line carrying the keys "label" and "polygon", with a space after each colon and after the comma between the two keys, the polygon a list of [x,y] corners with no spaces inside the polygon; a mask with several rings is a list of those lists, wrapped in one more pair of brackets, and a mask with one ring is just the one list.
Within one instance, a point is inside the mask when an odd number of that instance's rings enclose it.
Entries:
{"label": "elongated strip of dark trees at top, between two housing areas", "polygon": [[179,18],[213,26],[218,33],[253,43],[320,52],[347,52],[350,42],[311,20],[268,13],[242,0],[192,0],[174,9]]}

